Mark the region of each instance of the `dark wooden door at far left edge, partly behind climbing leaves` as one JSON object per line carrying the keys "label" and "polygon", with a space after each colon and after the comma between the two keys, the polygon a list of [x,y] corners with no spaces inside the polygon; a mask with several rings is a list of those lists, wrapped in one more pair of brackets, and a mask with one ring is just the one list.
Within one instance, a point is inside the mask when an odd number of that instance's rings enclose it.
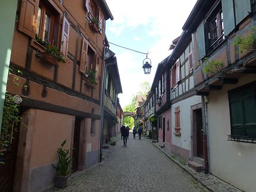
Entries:
{"label": "dark wooden door at far left edge, partly behind climbing leaves", "polygon": [[[9,144],[6,149],[0,149],[3,155],[0,155],[0,191],[13,191],[15,163],[18,149],[18,133],[20,124],[13,125],[13,129],[10,130],[10,136],[8,138]],[[3,134],[3,133],[2,133]]]}

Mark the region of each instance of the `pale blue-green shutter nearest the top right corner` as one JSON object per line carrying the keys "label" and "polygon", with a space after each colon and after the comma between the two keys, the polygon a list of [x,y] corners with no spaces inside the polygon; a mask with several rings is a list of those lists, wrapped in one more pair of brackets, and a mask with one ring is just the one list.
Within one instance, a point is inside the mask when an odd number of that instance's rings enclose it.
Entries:
{"label": "pale blue-green shutter nearest the top right corner", "polygon": [[235,10],[238,24],[251,12],[251,0],[235,0]]}

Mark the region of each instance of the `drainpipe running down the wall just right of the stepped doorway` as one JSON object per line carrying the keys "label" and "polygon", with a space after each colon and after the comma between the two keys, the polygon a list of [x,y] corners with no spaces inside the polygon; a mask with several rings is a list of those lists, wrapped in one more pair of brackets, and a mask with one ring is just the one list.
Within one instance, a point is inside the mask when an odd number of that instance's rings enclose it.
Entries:
{"label": "drainpipe running down the wall just right of the stepped doorway", "polygon": [[208,138],[207,138],[207,133],[208,133],[208,111],[207,111],[207,102],[208,102],[208,97],[207,96],[202,96],[202,138],[203,138],[203,144],[204,144],[204,173],[208,174],[209,173],[209,162],[208,162]]}

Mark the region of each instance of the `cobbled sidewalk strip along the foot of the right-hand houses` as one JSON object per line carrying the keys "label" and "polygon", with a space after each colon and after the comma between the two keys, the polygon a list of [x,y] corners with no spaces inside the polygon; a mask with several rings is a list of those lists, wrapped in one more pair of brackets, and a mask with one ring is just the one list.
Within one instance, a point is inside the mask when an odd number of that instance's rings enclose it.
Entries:
{"label": "cobbled sidewalk strip along the foot of the right-hand houses", "polygon": [[[148,139],[149,142],[151,140]],[[223,180],[215,177],[212,174],[204,174],[204,172],[195,172],[191,169],[186,162],[182,159],[178,158],[177,156],[173,155],[172,153],[168,152],[166,148],[161,149],[159,143],[152,143],[155,147],[157,147],[161,152],[163,152],[168,158],[173,160],[177,165],[180,166],[184,171],[188,174],[192,175],[195,180],[199,181],[202,185],[204,185],[208,190],[214,192],[242,192],[238,188],[230,185]]]}

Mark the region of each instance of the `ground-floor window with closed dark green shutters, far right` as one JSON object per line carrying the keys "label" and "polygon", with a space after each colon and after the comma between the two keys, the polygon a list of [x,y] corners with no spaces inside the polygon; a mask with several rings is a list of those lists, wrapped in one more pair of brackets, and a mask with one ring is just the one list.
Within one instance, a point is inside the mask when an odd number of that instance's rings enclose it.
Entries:
{"label": "ground-floor window with closed dark green shutters, far right", "polygon": [[256,81],[229,91],[232,137],[256,138]]}

